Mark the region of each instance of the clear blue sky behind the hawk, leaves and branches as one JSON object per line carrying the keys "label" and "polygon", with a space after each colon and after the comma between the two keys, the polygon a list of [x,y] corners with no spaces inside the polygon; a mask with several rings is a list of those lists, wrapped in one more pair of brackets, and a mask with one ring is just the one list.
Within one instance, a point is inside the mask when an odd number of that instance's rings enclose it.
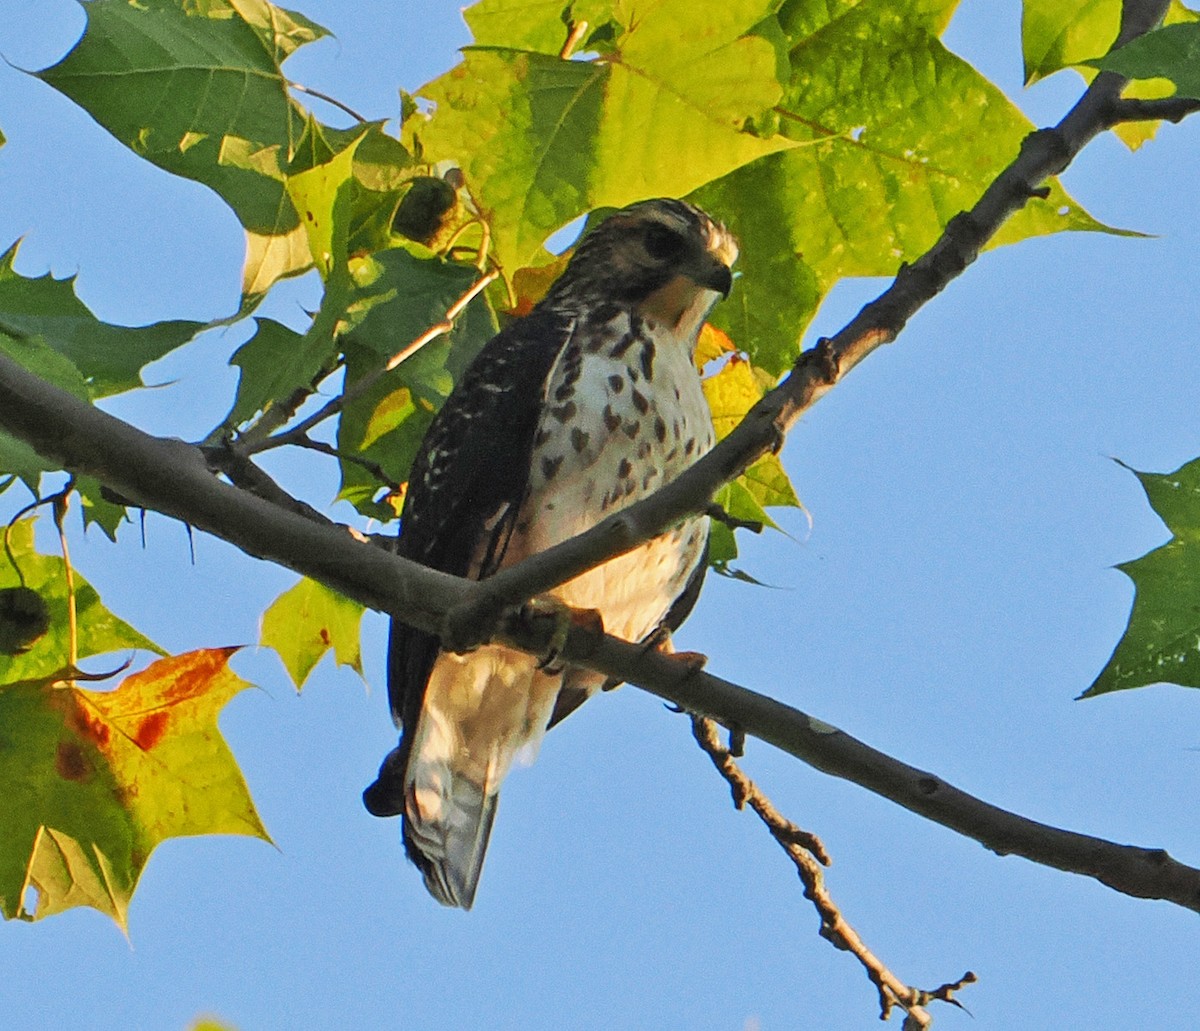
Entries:
{"label": "clear blue sky behind the hawk, leaves and branches", "polygon": [[[457,5],[304,0],[336,40],[288,65],[370,116],[396,112],[468,42]],[[73,43],[72,0],[0,0],[0,53],[42,67]],[[1019,6],[965,0],[948,43],[1038,124],[1080,91],[1020,91]],[[330,116],[336,120],[335,116]],[[0,246],[18,268],[78,274],[103,318],[234,310],[241,232],[203,187],[139,162],[80,110],[0,66]],[[1123,628],[1111,565],[1166,532],[1133,476],[1200,452],[1195,268],[1200,120],[1130,155],[1087,149],[1068,190],[1150,239],[1060,235],[985,254],[796,427],[785,462],[812,525],[744,543],[778,589],[710,579],[680,646],[983,798],[1200,862],[1200,696],[1158,687],[1073,699]],[[840,286],[811,329],[881,288]],[[316,284],[272,296],[294,325]],[[211,334],[110,409],[194,438],[228,407]],[[199,380],[200,394],[188,385]],[[296,485],[307,463],[275,461]],[[320,475],[325,475],[322,473]],[[334,481],[304,484],[328,498]],[[2,504],[11,505],[10,498]],[[47,546],[48,546],[47,541]],[[253,642],[290,574],[150,516],[73,558],[120,616],[173,651]],[[764,829],[683,718],[625,688],[589,703],[509,779],[475,910],[449,912],[359,792],[394,741],[385,629],[368,617],[370,687],[328,663],[302,696],[270,653],[222,718],[277,847],[168,841],[130,911],[130,941],[73,911],[0,927],[0,1013],[18,1029],[184,1029],[211,1013],[258,1029],[859,1029],[874,990],[817,937]],[[980,976],[938,1027],[1195,1026],[1195,915],[998,858],[865,791],[750,742],[746,769],[834,856],[829,887],[902,978]],[[899,1025],[898,1025],[899,1026]]]}

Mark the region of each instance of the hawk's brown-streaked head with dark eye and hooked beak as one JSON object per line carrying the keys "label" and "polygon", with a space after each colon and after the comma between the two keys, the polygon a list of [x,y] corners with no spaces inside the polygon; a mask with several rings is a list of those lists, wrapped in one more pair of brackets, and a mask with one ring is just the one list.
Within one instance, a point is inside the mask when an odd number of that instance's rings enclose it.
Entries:
{"label": "hawk's brown-streaked head with dark eye and hooked beak", "polygon": [[700,300],[707,311],[733,283],[738,245],[720,222],[684,200],[642,200],[583,238],[545,302],[629,304],[678,322]]}

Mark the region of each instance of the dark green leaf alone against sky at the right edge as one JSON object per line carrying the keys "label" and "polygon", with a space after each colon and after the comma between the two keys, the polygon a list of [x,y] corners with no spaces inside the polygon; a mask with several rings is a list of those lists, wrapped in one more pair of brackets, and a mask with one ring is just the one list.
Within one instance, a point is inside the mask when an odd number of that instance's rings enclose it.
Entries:
{"label": "dark green leaf alone against sky at the right edge", "polygon": [[1200,458],[1174,473],[1130,472],[1174,537],[1117,567],[1136,588],[1129,625],[1081,697],[1158,683],[1200,688]]}

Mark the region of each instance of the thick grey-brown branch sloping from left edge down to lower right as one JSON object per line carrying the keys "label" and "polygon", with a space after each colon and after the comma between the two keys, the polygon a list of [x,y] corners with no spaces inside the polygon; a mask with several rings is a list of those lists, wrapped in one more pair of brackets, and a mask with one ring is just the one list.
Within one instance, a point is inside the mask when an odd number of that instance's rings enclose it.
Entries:
{"label": "thick grey-brown branch sloping from left edge down to lower right", "polygon": [[[362,543],[347,527],[301,514],[221,481],[204,452],[152,437],[60,390],[0,354],[0,428],[73,473],[96,476],[131,503],[221,538],[256,558],[284,565],[370,609],[438,633],[462,606],[460,580]],[[1048,827],[989,805],[934,774],[892,759],[850,735],[766,695],[724,681],[655,649],[534,609],[509,610],[497,640],[628,681],[678,706],[737,726],[810,766],[866,787],[1000,855],[1094,877],[1138,898],[1200,912],[1200,870],[1165,851],[1116,845]]]}

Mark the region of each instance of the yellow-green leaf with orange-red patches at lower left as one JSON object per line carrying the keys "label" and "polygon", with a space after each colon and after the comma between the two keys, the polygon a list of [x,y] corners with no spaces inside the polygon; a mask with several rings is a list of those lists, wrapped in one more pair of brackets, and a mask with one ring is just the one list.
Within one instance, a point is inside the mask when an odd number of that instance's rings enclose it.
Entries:
{"label": "yellow-green leaf with orange-red patches at lower left", "polygon": [[235,651],[161,659],[114,691],[47,679],[0,685],[5,918],[91,906],[124,929],[161,841],[270,840],[217,730],[217,714],[250,687],[229,670]]}

